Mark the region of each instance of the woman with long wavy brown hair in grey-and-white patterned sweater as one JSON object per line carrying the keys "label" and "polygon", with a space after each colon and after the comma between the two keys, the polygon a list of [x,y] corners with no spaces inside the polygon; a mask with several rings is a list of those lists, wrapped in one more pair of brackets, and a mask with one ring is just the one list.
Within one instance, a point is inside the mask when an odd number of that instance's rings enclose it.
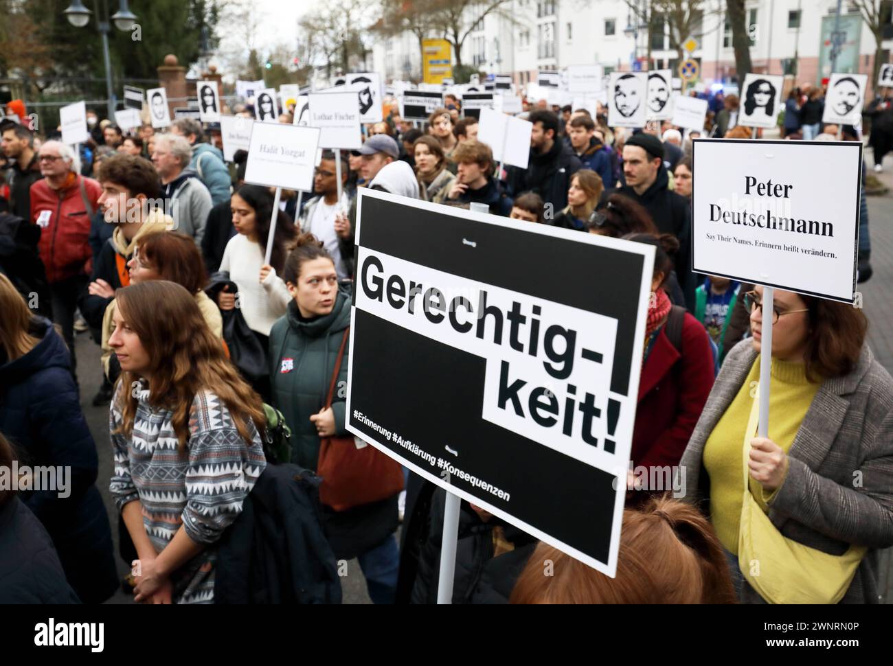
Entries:
{"label": "woman with long wavy brown hair in grey-and-white patterned sweater", "polygon": [[115,299],[110,489],[137,549],[134,595],[210,604],[215,544],[266,467],[263,404],[185,288],[152,280]]}

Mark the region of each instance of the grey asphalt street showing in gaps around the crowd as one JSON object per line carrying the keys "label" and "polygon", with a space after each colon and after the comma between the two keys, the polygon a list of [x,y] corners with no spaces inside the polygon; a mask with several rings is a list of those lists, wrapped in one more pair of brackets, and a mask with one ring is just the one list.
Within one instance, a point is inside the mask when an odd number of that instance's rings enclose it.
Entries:
{"label": "grey asphalt street showing in gaps around the crowd", "polygon": [[[866,151],[866,162],[870,165],[871,151]],[[893,296],[890,296],[890,287],[893,285],[893,156],[885,163],[886,171],[879,174],[879,178],[887,186],[890,192],[884,196],[871,196],[868,198],[868,208],[871,221],[872,237],[872,267],[874,275],[859,288],[863,294],[864,310],[870,321],[869,344],[880,363],[893,372]],[[77,340],[79,368],[81,370],[81,404],[90,426],[96,445],[99,448],[99,479],[98,485],[103,492],[109,515],[113,517],[113,526],[116,528],[116,512],[108,495],[108,481],[112,473],[112,456],[108,445],[108,408],[93,407],[90,401],[96,394],[98,387],[99,348],[90,339],[88,333],[82,333]],[[117,529],[113,529],[113,537],[117,546]],[[893,575],[889,570],[893,567],[893,557],[887,552],[887,599],[888,604],[893,603]],[[126,567],[119,559],[121,576],[126,573]],[[363,575],[360,573],[357,562],[349,562],[348,575],[342,579],[344,589],[344,602],[346,604],[369,604],[366,595]],[[127,595],[119,593],[110,603],[130,603]]]}

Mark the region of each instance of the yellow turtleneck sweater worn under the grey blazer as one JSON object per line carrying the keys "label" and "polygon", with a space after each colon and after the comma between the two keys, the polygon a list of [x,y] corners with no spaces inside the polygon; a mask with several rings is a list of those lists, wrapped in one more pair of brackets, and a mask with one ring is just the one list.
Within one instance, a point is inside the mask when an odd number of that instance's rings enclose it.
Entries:
{"label": "yellow turtleneck sweater worn under the grey blazer", "polygon": [[[754,403],[751,391],[759,380],[760,357],[757,356],[738,395],[722,414],[704,446],[704,467],[710,477],[710,520],[716,536],[732,554],[738,554],[741,495],[744,490],[741,487],[744,431]],[[806,379],[803,363],[786,363],[778,359],[772,359],[771,383],[769,438],[787,454],[821,384]],[[751,436],[755,437],[756,433]],[[763,487],[749,473],[748,479],[750,494],[763,511],[768,512]]]}

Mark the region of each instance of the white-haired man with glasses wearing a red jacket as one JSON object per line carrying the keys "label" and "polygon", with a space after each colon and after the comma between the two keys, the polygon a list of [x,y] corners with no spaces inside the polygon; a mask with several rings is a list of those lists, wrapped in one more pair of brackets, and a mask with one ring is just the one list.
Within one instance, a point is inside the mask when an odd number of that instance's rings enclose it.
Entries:
{"label": "white-haired man with glasses wearing a red jacket", "polygon": [[92,252],[88,238],[102,187],[79,174],[78,159],[69,146],[47,141],[38,164],[44,177],[31,186],[30,220],[41,229],[38,251],[46,267],[53,321],[63,330],[71,353],[71,375],[77,383],[74,354],[74,312],[87,286]]}

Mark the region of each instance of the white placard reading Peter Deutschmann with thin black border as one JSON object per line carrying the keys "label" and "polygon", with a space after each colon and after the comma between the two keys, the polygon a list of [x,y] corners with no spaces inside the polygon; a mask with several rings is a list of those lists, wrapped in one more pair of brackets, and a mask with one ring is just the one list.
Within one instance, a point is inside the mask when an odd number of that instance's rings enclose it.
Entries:
{"label": "white placard reading Peter Deutschmann with thin black border", "polygon": [[862,144],[695,139],[694,271],[852,303]]}

